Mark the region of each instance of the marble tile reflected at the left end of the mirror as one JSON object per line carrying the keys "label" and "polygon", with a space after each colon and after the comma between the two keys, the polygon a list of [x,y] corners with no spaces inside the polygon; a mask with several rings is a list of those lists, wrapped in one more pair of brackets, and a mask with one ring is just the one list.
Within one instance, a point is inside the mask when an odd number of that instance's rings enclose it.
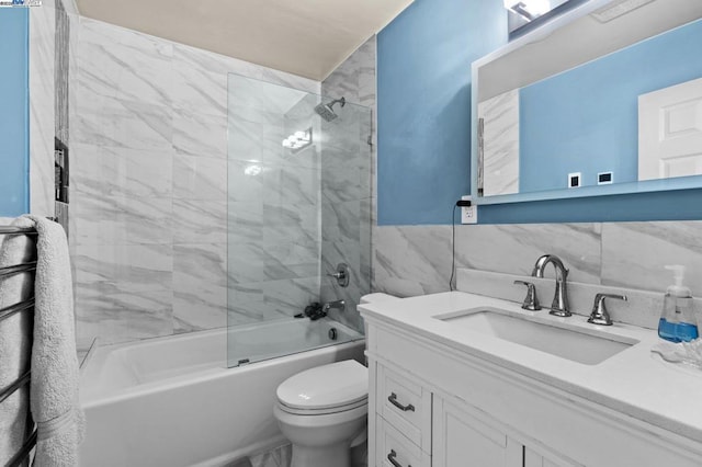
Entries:
{"label": "marble tile reflected at the left end of the mirror", "polygon": [[519,90],[478,103],[478,118],[483,195],[519,193]]}

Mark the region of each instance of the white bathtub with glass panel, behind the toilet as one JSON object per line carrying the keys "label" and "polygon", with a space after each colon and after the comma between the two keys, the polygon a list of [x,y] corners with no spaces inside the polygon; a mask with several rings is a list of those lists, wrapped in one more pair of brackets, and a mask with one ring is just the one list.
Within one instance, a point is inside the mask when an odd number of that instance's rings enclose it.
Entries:
{"label": "white bathtub with glass panel, behind the toilet", "polygon": [[[352,341],[329,345],[331,328],[339,342]],[[234,368],[225,361],[226,329],[93,349],[81,368],[81,465],[225,466],[267,452],[286,443],[273,417],[278,385],[303,369],[364,358],[363,335],[329,319],[229,332],[236,361],[283,339],[296,351],[325,346]]]}

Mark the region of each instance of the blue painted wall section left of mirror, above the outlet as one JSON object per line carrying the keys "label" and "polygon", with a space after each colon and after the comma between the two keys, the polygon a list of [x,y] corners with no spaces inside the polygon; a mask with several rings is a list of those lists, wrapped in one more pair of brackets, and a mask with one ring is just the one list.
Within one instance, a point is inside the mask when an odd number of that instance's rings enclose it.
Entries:
{"label": "blue painted wall section left of mirror, above the outlet", "polygon": [[471,62],[505,43],[498,0],[416,0],[378,34],[378,224],[450,221],[469,193]]}

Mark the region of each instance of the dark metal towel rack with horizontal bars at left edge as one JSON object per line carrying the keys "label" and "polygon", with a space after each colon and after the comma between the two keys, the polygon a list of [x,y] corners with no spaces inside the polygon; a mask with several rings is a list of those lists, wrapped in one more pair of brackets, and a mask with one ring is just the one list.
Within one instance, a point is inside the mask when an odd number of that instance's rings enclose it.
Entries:
{"label": "dark metal towel rack with horizontal bars at left edge", "polygon": [[[37,232],[33,227],[26,228],[26,227],[0,226],[0,235],[36,236]],[[0,281],[14,274],[34,273],[35,271],[36,271],[36,261],[0,267]],[[0,322],[4,321],[5,319],[19,312],[30,314],[30,320],[31,320],[30,329],[32,329],[33,318],[34,318],[34,297],[20,301],[19,304],[0,308]],[[32,332],[30,332],[29,338],[30,338],[29,348],[32,349]],[[2,391],[0,391],[0,403],[2,403],[7,398],[12,396],[20,388],[29,385],[30,380],[31,380],[31,371],[27,369],[15,381],[10,384],[10,386],[8,386],[7,388],[2,389]],[[30,455],[35,445],[36,445],[36,429],[34,426],[34,420],[32,419],[32,412],[31,410],[27,410],[25,433],[24,433],[24,444],[22,445],[20,451],[18,451],[14,454],[14,456],[12,456],[12,458],[9,460],[5,467],[29,466]]]}

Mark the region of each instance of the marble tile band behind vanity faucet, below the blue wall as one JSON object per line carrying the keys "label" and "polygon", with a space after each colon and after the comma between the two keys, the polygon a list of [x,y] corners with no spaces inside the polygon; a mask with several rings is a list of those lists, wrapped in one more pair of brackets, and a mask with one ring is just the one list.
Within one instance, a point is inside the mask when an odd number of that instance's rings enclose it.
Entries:
{"label": "marble tile band behind vanity faucet, below the blue wall", "polygon": [[[666,264],[688,267],[702,296],[702,221],[456,226],[456,266],[529,275],[543,253],[561,257],[574,282],[665,293]],[[375,289],[399,296],[449,291],[451,226],[374,231]]]}

